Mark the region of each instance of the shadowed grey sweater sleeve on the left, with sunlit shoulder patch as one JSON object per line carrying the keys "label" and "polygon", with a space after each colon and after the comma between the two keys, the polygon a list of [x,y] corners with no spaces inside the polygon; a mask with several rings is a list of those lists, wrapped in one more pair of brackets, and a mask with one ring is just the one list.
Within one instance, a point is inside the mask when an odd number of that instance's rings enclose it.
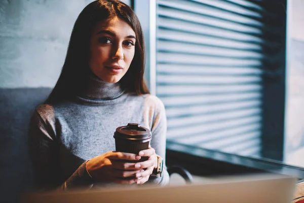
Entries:
{"label": "shadowed grey sweater sleeve on the left, with sunlit shoulder patch", "polygon": [[67,179],[60,173],[59,146],[56,140],[55,116],[51,106],[37,108],[30,121],[28,148],[38,190],[92,186],[86,161]]}

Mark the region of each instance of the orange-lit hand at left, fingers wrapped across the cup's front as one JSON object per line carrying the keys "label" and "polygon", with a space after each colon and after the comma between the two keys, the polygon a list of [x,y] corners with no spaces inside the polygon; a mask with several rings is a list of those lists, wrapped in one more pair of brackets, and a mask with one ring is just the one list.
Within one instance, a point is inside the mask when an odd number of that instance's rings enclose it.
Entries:
{"label": "orange-lit hand at left, fingers wrapped across the cup's front", "polygon": [[87,162],[87,170],[97,182],[133,184],[140,179],[140,177],[135,177],[136,173],[143,172],[145,166],[137,167],[136,163],[122,160],[139,160],[140,158],[139,155],[131,153],[106,152],[90,159]]}

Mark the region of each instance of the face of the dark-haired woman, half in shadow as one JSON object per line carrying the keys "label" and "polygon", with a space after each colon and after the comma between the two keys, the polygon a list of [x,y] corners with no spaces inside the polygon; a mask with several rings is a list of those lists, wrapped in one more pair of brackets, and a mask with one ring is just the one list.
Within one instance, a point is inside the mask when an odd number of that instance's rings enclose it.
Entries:
{"label": "face of the dark-haired woman, half in shadow", "polygon": [[135,53],[135,32],[115,17],[97,23],[90,41],[90,69],[101,80],[116,83],[127,73]]}

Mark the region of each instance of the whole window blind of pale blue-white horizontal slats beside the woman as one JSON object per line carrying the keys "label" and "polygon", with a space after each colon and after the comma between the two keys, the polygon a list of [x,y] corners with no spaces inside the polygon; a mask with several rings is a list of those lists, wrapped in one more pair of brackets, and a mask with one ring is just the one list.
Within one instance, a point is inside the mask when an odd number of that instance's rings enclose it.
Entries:
{"label": "whole window blind of pale blue-white horizontal slats beside the woman", "polygon": [[263,12],[254,1],[157,1],[156,94],[167,140],[259,156]]}

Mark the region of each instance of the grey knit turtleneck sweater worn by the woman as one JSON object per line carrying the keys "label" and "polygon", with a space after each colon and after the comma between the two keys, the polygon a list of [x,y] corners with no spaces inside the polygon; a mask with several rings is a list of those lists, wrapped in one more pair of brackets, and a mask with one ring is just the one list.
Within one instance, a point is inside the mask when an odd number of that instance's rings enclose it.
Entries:
{"label": "grey knit turtleneck sweater worn by the woman", "polygon": [[[38,186],[61,186],[65,190],[102,185],[89,176],[86,160],[114,151],[113,133],[128,123],[149,128],[151,147],[165,158],[165,108],[156,96],[125,93],[118,83],[106,83],[91,74],[75,99],[38,106],[29,129],[30,156]],[[166,167],[162,177],[150,176],[148,182],[167,185]]]}

